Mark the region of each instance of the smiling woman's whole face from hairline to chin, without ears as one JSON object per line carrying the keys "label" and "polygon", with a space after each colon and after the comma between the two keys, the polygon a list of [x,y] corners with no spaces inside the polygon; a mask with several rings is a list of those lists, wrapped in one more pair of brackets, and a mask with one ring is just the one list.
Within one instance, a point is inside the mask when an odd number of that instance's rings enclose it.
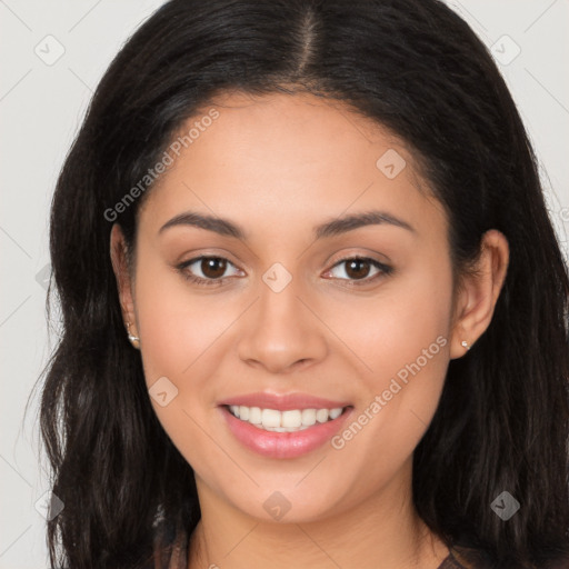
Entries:
{"label": "smiling woman's whole face from hairline to chin, without ears", "polygon": [[287,521],[400,499],[451,357],[442,207],[339,103],[226,94],[186,127],[130,290],[152,405],[198,488]]}

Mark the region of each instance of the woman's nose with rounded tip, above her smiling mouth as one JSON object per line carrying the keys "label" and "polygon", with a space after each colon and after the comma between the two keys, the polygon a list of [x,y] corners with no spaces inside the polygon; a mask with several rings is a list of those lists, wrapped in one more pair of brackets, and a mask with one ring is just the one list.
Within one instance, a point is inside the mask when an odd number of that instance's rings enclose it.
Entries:
{"label": "woman's nose with rounded tip, above her smiling mouth", "polygon": [[295,279],[280,292],[261,283],[260,298],[241,319],[242,361],[271,373],[288,373],[326,357],[326,326],[306,295],[299,298],[298,292]]}

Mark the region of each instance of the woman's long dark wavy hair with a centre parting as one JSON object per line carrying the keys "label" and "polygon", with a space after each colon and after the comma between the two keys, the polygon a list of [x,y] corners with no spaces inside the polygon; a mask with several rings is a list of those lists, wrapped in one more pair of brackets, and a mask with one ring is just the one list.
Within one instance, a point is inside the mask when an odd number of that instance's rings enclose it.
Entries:
{"label": "woman's long dark wavy hair with a centre parting", "polygon": [[[186,567],[200,519],[193,471],[159,423],[124,333],[109,211],[217,93],[310,92],[399,136],[445,207],[460,274],[481,237],[510,246],[493,319],[452,360],[413,456],[413,502],[447,545],[493,568],[569,555],[568,270],[536,157],[488,50],[438,0],[171,0],[111,62],[66,158],[50,220],[62,336],[41,433],[53,567]],[[129,249],[152,184],[118,216]],[[107,212],[107,213],[106,213]],[[508,490],[508,522],[490,508]]]}

